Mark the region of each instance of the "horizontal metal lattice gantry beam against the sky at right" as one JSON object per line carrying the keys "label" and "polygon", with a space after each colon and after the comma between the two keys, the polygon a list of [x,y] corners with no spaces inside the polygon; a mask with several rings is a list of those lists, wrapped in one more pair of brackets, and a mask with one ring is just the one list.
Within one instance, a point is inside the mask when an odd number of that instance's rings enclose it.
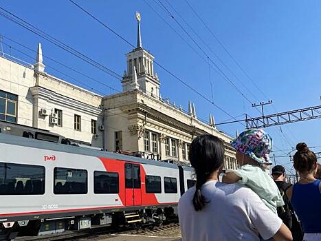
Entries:
{"label": "horizontal metal lattice gantry beam against the sky at right", "polygon": [[307,121],[316,118],[321,118],[321,105],[296,109],[289,112],[281,112],[260,116],[254,118],[246,118],[245,125],[247,129],[270,127],[274,125],[284,125],[298,121]]}

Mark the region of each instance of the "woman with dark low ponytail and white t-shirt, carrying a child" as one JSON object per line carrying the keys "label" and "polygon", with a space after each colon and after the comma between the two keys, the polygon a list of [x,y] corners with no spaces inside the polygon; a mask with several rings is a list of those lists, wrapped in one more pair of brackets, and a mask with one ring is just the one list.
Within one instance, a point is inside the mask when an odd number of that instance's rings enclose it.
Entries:
{"label": "woman with dark low ponytail and white t-shirt, carrying a child", "polygon": [[179,200],[183,241],[292,240],[282,220],[251,189],[219,182],[224,146],[206,134],[190,145],[190,164],[197,182]]}

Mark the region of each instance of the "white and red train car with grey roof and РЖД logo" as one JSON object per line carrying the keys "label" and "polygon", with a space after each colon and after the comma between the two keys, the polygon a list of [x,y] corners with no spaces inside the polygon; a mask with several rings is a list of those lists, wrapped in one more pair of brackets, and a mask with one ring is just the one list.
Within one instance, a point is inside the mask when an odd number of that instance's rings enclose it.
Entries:
{"label": "white and red train car with grey roof and \u0420\u0416\u0414 logo", "polygon": [[0,240],[93,224],[161,223],[177,165],[0,134]]}

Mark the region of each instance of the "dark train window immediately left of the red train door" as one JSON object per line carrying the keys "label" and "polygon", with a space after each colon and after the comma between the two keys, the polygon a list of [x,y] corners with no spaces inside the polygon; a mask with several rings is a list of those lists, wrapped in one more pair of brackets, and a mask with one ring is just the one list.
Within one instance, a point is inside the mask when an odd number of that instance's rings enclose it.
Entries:
{"label": "dark train window immediately left of the red train door", "polygon": [[119,178],[116,172],[94,171],[93,172],[93,192],[102,193],[118,193]]}

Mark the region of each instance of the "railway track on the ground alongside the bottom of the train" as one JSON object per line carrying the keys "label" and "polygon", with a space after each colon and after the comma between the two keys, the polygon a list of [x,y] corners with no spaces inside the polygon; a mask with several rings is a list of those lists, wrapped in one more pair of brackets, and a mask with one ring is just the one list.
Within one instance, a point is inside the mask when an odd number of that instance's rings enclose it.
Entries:
{"label": "railway track on the ground alongside the bottom of the train", "polygon": [[51,235],[32,236],[32,237],[17,237],[15,241],[63,241],[63,240],[83,240],[90,238],[90,240],[99,240],[100,238],[109,238],[115,235],[159,235],[166,231],[178,229],[179,224],[169,223],[161,226],[145,226],[137,229],[135,227],[126,227],[120,229],[110,229],[110,227],[94,227],[84,231],[66,231],[64,233],[55,233]]}

